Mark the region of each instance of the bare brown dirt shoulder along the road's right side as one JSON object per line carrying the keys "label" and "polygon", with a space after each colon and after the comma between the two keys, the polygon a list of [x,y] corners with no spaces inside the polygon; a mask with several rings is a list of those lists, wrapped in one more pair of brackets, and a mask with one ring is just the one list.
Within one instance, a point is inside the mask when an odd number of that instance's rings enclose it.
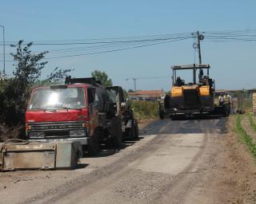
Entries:
{"label": "bare brown dirt shoulder along the road's right side", "polygon": [[[198,194],[201,203],[255,203],[255,161],[234,131],[235,116],[226,123],[226,134],[219,140],[218,154],[206,172]],[[210,202],[209,202],[210,201]]]}

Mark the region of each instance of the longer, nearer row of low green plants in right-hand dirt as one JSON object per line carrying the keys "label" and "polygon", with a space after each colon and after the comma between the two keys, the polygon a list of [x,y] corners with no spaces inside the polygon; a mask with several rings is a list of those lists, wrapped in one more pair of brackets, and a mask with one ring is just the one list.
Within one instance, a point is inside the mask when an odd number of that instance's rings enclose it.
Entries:
{"label": "longer, nearer row of low green plants in right-hand dirt", "polygon": [[253,142],[252,137],[247,134],[244,128],[242,128],[241,121],[242,116],[238,115],[236,120],[236,131],[241,136],[242,142],[245,143],[246,146],[249,148],[249,151],[254,156],[254,159],[256,159],[256,145]]}

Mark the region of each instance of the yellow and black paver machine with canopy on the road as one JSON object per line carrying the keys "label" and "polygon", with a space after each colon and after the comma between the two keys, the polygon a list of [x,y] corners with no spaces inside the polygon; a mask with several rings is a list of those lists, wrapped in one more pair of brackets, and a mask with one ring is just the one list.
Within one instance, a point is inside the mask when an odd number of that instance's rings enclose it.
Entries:
{"label": "yellow and black paver machine with canopy on the road", "polygon": [[[209,77],[210,65],[174,65],[173,84],[170,94],[162,97],[159,103],[159,116],[174,118],[176,116],[228,116],[226,104],[214,104],[215,82]],[[186,83],[178,76],[178,72],[190,70],[193,81]],[[204,75],[204,70],[206,75]],[[198,75],[198,77],[197,77]]]}

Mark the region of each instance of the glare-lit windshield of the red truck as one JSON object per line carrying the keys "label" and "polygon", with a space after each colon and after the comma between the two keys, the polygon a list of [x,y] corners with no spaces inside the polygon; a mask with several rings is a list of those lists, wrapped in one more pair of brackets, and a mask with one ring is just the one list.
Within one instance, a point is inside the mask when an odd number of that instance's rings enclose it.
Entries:
{"label": "glare-lit windshield of the red truck", "polygon": [[28,109],[58,110],[86,108],[83,88],[39,88],[31,96]]}

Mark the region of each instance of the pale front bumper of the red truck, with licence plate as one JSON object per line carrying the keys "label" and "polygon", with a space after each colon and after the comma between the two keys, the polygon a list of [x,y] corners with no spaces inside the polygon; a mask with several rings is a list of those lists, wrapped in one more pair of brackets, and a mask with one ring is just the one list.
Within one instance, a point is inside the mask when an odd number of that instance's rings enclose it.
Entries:
{"label": "pale front bumper of the red truck, with licence plate", "polygon": [[30,142],[40,143],[66,143],[66,142],[78,142],[81,145],[90,145],[90,137],[83,138],[65,138],[65,139],[29,139]]}

